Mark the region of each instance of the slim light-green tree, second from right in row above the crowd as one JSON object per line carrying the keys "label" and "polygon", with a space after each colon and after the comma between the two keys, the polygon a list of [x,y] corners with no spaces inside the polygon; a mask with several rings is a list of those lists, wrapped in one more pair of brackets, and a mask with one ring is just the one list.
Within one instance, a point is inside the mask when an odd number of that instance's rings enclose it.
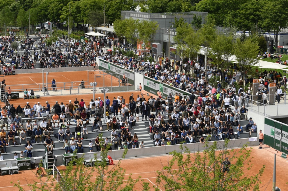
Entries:
{"label": "slim light-green tree, second from right in row above the crowd", "polygon": [[[229,58],[233,55],[234,43],[233,33],[228,33],[218,35],[211,44],[210,58],[217,68],[221,70],[229,68]],[[222,78],[222,84],[224,84],[224,78]]]}

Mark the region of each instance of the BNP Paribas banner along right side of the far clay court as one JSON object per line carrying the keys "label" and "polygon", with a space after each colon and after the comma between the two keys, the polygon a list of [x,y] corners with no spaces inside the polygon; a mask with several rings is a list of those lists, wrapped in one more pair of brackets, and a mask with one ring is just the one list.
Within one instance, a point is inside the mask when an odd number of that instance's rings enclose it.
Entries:
{"label": "BNP Paribas banner along right side of the far clay court", "polygon": [[119,78],[120,81],[123,78],[123,74],[125,74],[125,76],[129,79],[128,83],[134,85],[134,72],[132,72],[131,70],[125,69],[111,62],[107,62],[103,59],[99,59],[98,65],[100,70],[105,70],[105,73],[111,74],[114,77]]}

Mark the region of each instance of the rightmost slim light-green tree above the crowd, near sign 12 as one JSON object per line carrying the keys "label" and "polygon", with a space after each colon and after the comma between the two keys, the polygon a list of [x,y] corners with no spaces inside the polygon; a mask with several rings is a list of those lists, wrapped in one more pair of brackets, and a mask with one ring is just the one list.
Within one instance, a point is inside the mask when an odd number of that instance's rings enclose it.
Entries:
{"label": "rightmost slim light-green tree above the crowd, near sign 12", "polygon": [[240,39],[236,39],[234,44],[234,55],[236,56],[237,65],[242,73],[242,79],[251,72],[251,65],[255,65],[258,60],[255,56],[258,55],[259,46],[256,40],[246,38],[244,42]]}

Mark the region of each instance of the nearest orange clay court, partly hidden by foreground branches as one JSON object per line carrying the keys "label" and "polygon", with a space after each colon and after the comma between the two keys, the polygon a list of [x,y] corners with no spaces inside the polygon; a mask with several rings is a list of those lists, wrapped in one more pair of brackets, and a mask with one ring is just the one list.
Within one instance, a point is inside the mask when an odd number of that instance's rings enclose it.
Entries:
{"label": "nearest orange clay court, partly hidden by foreground branches", "polygon": [[[245,171],[245,176],[253,176],[258,173],[258,170],[265,165],[264,175],[261,177],[260,190],[272,190],[272,175],[273,175],[273,160],[274,160],[274,149],[269,149],[268,147],[263,147],[263,149],[258,149],[258,146],[251,147],[251,162],[254,164],[250,171]],[[156,185],[156,171],[162,171],[162,165],[166,166],[167,161],[169,161],[172,156],[156,156],[156,157],[147,157],[147,158],[137,158],[137,159],[124,159],[121,161],[121,167],[126,169],[125,180],[128,179],[129,174],[132,174],[133,179],[137,179],[141,176],[141,180],[150,183],[150,187]],[[282,190],[287,190],[286,182],[287,179],[287,171],[288,166],[286,163],[286,159],[283,159],[277,153],[277,164],[276,164],[276,186],[281,188]],[[114,161],[117,163],[118,161]],[[233,162],[232,162],[233,163]],[[111,169],[112,166],[109,166]],[[175,167],[176,169],[177,167]],[[58,166],[58,169],[65,169],[64,166]],[[19,190],[18,188],[14,188],[11,181],[17,183],[19,180],[20,185],[22,185],[24,190],[30,190],[27,184],[40,182],[37,177],[35,177],[35,169],[32,171],[19,171],[18,175],[6,175],[2,176],[2,183],[0,189],[9,189],[11,191]],[[41,181],[46,182],[47,177],[42,177]],[[236,179],[236,178],[235,178]],[[55,183],[55,182],[54,182]],[[49,184],[49,183],[48,183]],[[39,184],[40,186],[40,184]],[[161,185],[157,185],[160,190],[164,191]],[[140,183],[135,185],[134,190],[141,190],[142,187]],[[151,189],[154,190],[154,189]]]}

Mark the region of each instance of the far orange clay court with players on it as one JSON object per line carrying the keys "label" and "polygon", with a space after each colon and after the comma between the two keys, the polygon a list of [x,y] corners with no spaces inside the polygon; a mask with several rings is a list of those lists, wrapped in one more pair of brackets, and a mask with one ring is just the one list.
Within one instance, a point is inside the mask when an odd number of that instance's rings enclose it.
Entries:
{"label": "far orange clay court with players on it", "polygon": [[[45,70],[46,71],[46,70]],[[49,72],[49,71],[48,71]],[[106,74],[106,75],[104,75]],[[95,76],[96,75],[96,76]],[[12,91],[21,91],[22,89],[33,89],[35,91],[42,90],[42,81],[44,79],[44,86],[46,86],[46,72],[44,72],[44,78],[42,78],[42,73],[30,73],[30,74],[16,74],[16,75],[6,75],[1,80],[6,80],[6,90],[11,87]],[[56,80],[56,85],[58,89],[65,86],[65,89],[69,87],[78,88],[82,80],[85,81],[85,86],[87,87],[88,82],[98,82],[97,87],[111,87],[119,86],[119,79],[111,76],[100,70],[96,71],[72,71],[72,72],[49,72],[47,76],[48,90],[51,88],[52,79]],[[64,85],[65,82],[65,85]]]}

